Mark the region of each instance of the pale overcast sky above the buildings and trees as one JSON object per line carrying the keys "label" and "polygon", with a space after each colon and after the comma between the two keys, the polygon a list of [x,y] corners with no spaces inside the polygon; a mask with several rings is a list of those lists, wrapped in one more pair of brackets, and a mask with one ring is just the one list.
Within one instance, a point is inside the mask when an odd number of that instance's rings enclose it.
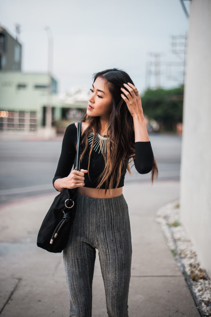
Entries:
{"label": "pale overcast sky above the buildings and trees", "polygon": [[[190,1],[184,1],[189,12]],[[180,0],[0,0],[0,25],[22,44],[22,71],[47,72],[49,26],[53,34],[53,76],[58,92],[90,86],[92,75],[107,68],[126,71],[142,93],[149,83],[146,64],[152,62],[150,87],[155,87],[155,57],[161,53],[161,87],[182,83],[183,61],[171,52],[171,36],[184,36],[189,20]],[[177,40],[177,42],[180,42]],[[184,42],[184,40],[182,40]],[[180,81],[170,80],[167,73]],[[158,77],[157,77],[158,78]]]}

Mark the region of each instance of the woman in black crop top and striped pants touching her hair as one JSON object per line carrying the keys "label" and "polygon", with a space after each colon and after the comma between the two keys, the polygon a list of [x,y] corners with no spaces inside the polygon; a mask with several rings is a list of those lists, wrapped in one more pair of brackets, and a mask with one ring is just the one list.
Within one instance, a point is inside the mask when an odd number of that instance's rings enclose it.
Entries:
{"label": "woman in black crop top and striped pants touching her hair", "polygon": [[[128,316],[131,232],[122,194],[134,161],[140,174],[158,175],[141,98],[129,75],[117,68],[94,74],[81,124],[81,170],[76,171],[77,123],[64,133],[53,184],[76,188],[76,216],[63,261],[70,316],[92,314],[92,280],[98,249],[109,317]],[[71,171],[74,164],[74,169]],[[71,172],[70,172],[71,171]]]}

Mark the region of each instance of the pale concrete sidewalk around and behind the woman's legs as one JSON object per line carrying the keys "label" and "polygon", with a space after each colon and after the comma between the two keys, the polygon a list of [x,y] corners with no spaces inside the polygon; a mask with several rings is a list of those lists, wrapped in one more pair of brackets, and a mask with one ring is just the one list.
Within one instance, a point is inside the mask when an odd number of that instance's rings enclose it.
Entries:
{"label": "pale concrete sidewalk around and behind the woman's legs", "polygon": [[[161,205],[179,198],[178,181],[126,183],[132,235],[129,317],[200,316],[187,283],[154,220]],[[37,233],[53,198],[47,194],[1,207],[1,317],[69,317],[62,253],[36,246]],[[97,250],[96,250],[97,251]],[[92,316],[106,317],[98,253]]]}

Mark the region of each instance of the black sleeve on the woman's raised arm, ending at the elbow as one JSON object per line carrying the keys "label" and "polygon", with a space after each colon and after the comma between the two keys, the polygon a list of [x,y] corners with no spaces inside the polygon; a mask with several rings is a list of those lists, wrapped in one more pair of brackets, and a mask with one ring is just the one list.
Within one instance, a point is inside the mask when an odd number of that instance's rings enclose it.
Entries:
{"label": "black sleeve on the woman's raised arm, ending at the elbow", "polygon": [[135,142],[134,165],[139,174],[147,174],[153,168],[154,155],[150,141]]}

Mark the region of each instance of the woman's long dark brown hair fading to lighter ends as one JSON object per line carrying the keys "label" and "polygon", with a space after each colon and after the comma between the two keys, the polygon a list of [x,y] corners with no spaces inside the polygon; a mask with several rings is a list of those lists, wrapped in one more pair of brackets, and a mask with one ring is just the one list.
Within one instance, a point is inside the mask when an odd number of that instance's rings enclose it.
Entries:
{"label": "woman's long dark brown hair fading to lighter ends", "polygon": [[[134,83],[126,72],[117,68],[103,70],[102,72],[95,73],[93,77],[93,83],[97,77],[102,78],[105,83],[108,84],[109,92],[112,95],[112,111],[107,126],[106,153],[102,151],[102,155],[105,159],[105,167],[98,177],[98,185],[96,187],[101,188],[102,184],[105,183],[106,194],[108,189],[110,193],[110,189],[112,189],[112,184],[114,181],[116,181],[115,188],[117,188],[121,179],[122,168],[127,166],[127,170],[131,175],[129,164],[135,158],[134,123],[127,104],[121,97],[122,90],[120,88],[125,88],[123,83],[130,82],[133,85]],[[94,132],[94,138],[89,152],[89,176],[90,157],[93,150],[94,139],[96,132],[100,131],[101,128],[100,117],[91,117],[88,114],[85,114],[81,122],[89,123],[89,126],[82,133],[83,137],[81,144],[83,144],[85,147],[81,154],[81,159],[88,148],[88,134],[90,132]],[[157,178],[157,176],[158,168],[154,157],[153,168],[151,171],[152,184],[154,178]]]}

